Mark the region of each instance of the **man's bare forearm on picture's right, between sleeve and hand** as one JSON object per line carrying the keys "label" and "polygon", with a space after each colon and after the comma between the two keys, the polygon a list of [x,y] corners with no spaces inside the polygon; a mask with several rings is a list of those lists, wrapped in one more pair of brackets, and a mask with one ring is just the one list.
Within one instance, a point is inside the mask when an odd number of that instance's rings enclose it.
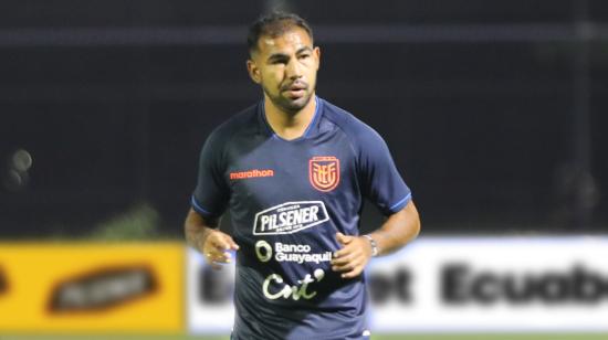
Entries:
{"label": "man's bare forearm on picture's right, between sleeve and hand", "polygon": [[412,201],[401,211],[390,215],[369,236],[376,241],[378,255],[387,255],[411,242],[420,232],[420,217]]}

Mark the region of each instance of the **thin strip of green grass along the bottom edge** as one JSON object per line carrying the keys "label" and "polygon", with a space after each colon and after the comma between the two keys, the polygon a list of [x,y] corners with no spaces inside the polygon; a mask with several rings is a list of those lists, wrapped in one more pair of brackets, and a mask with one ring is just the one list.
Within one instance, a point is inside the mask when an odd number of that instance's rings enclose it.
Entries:
{"label": "thin strip of green grass along the bottom edge", "polygon": [[[229,340],[210,336],[0,336],[1,340]],[[378,334],[373,340],[608,340],[608,333],[568,334]]]}

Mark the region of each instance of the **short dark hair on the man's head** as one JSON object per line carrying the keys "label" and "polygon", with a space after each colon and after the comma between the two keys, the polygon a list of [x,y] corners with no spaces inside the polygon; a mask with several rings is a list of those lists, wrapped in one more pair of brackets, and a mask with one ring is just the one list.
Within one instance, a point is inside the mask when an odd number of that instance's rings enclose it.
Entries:
{"label": "short dark hair on the man's head", "polygon": [[291,30],[293,26],[298,26],[308,33],[311,40],[313,40],[313,30],[300,15],[294,13],[286,13],[281,11],[270,12],[255,20],[249,26],[249,34],[247,35],[247,46],[249,54],[258,50],[258,41],[262,35],[270,35],[271,38],[277,38]]}

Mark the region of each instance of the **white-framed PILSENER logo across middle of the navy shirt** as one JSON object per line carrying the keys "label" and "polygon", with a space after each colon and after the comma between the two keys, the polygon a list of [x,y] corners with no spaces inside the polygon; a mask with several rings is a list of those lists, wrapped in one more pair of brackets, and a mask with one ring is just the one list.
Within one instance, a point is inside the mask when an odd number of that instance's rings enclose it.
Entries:
{"label": "white-framed PILSENER logo across middle of the navy shirt", "polygon": [[286,202],[256,213],[253,235],[293,234],[328,220],[322,201]]}

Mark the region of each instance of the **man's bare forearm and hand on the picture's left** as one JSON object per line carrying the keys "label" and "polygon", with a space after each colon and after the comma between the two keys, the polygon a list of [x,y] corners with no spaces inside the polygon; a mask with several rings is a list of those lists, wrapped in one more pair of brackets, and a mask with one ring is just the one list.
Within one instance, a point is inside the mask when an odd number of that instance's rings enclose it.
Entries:
{"label": "man's bare forearm and hand on the picture's left", "polygon": [[231,262],[230,251],[238,251],[239,245],[232,237],[218,230],[220,219],[205,217],[190,209],[184,230],[188,244],[202,253],[205,261],[214,269],[220,264]]}

